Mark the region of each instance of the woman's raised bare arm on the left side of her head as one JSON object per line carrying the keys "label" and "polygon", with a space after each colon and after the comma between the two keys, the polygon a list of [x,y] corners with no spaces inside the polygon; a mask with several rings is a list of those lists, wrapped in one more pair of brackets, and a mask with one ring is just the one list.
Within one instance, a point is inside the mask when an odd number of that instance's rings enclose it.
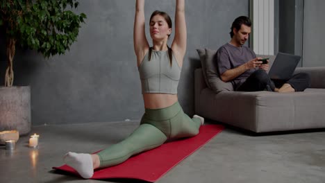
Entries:
{"label": "woman's raised bare arm on the left side of her head", "polygon": [[138,62],[140,62],[144,58],[145,51],[149,49],[149,44],[146,38],[144,26],[144,0],[137,0],[135,3],[133,44],[135,55],[137,55],[138,58]]}

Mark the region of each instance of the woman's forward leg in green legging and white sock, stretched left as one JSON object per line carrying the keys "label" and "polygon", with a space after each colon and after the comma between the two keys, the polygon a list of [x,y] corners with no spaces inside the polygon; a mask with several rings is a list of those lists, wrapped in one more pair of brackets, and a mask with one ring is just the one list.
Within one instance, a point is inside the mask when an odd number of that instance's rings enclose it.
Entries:
{"label": "woman's forward leg in green legging and white sock, stretched left", "polygon": [[[114,144],[96,155],[67,153],[65,162],[78,171],[81,177],[90,178],[94,168],[121,164],[132,155],[161,146],[166,140],[167,137],[158,128],[150,124],[142,124],[124,141]],[[99,164],[94,162],[96,156],[98,156]]]}

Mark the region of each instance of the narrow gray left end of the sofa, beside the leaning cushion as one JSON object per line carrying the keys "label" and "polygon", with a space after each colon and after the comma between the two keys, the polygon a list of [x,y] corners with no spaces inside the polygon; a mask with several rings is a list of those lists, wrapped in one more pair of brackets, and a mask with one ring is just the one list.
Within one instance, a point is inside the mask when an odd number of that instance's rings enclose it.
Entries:
{"label": "narrow gray left end of the sofa, beside the leaning cushion", "polygon": [[203,89],[208,87],[206,81],[203,78],[202,69],[194,70],[194,111],[197,111],[195,108],[199,106],[200,94]]}

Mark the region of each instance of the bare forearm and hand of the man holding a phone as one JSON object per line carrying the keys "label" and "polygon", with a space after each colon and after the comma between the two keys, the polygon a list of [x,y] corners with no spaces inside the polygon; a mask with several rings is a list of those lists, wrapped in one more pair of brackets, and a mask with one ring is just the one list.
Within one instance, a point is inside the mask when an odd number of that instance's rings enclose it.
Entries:
{"label": "bare forearm and hand of the man holding a phone", "polygon": [[240,65],[240,67],[236,67],[234,69],[228,69],[227,71],[225,71],[224,73],[222,73],[220,75],[220,78],[224,82],[233,80],[233,79],[237,78],[238,76],[240,76],[242,73],[248,71],[249,69],[259,67],[260,64],[262,64],[262,62],[258,61],[258,59],[260,59],[260,58],[254,58],[252,60],[249,60],[249,62],[246,62],[246,63]]}

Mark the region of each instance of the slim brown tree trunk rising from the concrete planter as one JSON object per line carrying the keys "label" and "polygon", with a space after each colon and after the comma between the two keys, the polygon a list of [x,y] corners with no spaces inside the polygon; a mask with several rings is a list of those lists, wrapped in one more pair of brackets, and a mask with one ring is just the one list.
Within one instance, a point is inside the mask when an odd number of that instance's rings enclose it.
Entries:
{"label": "slim brown tree trunk rising from the concrete planter", "polygon": [[15,44],[16,40],[10,38],[7,43],[7,61],[8,67],[6,69],[6,78],[5,78],[5,86],[12,87],[12,83],[14,80],[14,73],[12,68],[12,61],[15,56]]}

